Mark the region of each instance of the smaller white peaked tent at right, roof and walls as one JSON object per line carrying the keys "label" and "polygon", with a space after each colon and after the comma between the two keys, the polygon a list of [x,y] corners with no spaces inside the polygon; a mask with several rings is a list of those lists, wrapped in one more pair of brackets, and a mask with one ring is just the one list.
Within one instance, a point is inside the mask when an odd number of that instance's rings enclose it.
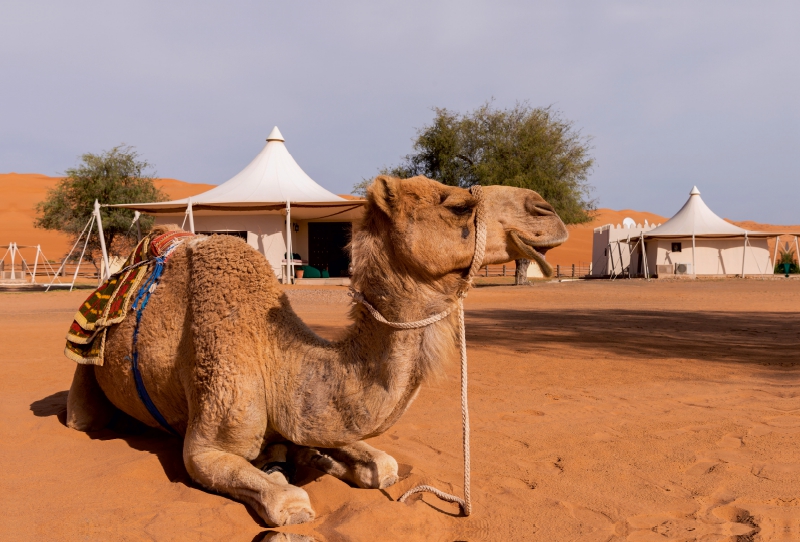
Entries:
{"label": "smaller white peaked tent at right, roof and walls", "polygon": [[632,236],[631,241],[641,241],[640,274],[771,275],[774,255],[770,257],[767,239],[780,235],[748,231],[726,222],[708,208],[695,186],[675,216],[661,226]]}

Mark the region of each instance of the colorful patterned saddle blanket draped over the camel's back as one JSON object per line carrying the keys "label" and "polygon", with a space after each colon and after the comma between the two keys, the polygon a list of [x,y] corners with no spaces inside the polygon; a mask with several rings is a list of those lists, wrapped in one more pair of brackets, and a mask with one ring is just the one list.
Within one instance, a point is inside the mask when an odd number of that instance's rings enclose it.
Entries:
{"label": "colorful patterned saddle blanket draped over the camel's back", "polygon": [[103,365],[106,332],[125,319],[139,285],[152,273],[156,258],[166,260],[193,236],[185,231],[170,231],[142,239],[122,269],[92,292],[75,313],[64,355],[78,363]]}

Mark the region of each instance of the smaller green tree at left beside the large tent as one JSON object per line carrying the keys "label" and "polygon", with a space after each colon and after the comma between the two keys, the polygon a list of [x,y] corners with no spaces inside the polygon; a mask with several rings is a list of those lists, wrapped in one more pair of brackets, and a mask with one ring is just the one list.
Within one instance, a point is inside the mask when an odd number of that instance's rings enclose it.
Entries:
{"label": "smaller green tree at left beside the large tent", "polygon": [[[145,203],[165,201],[166,195],[153,184],[150,164],[140,159],[133,147],[119,145],[102,154],[87,153],[81,163],[66,170],[65,177],[47,193],[36,206],[37,228],[58,230],[69,234],[73,242],[80,235],[94,210],[94,200],[100,203]],[[103,236],[110,252],[121,253],[136,240],[136,228],[131,227],[133,211],[116,207],[101,207]],[[153,219],[142,215],[141,229],[150,229]],[[96,232],[96,230],[95,230]],[[92,235],[86,253],[97,266],[100,240]]]}

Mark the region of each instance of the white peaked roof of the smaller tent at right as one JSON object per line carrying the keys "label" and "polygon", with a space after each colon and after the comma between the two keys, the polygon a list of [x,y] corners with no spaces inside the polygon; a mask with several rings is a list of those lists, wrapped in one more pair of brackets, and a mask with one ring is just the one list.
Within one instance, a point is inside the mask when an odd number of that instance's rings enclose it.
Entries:
{"label": "white peaked roof of the smaller tent at right", "polygon": [[644,232],[645,237],[744,237],[747,230],[714,214],[695,186],[689,200],[664,224]]}

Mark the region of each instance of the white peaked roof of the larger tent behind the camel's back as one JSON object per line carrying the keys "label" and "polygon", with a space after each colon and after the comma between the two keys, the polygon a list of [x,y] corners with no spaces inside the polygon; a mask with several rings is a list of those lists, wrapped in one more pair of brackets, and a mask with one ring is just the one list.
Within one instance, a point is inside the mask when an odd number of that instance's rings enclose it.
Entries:
{"label": "white peaked roof of the larger tent behind the camel's back", "polygon": [[[190,198],[157,203],[118,205],[148,213],[174,213],[186,209]],[[200,210],[278,210],[292,207],[359,207],[364,202],[346,200],[318,185],[295,162],[286,149],[276,126],[267,144],[247,167],[229,180],[191,197],[192,207]]]}

